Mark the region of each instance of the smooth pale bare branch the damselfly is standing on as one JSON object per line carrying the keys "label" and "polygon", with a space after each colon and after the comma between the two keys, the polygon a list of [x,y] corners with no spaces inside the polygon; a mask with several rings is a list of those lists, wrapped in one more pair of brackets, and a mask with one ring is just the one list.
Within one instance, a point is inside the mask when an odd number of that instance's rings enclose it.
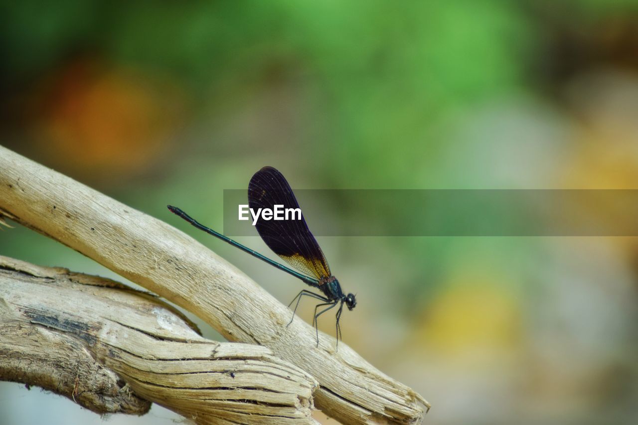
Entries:
{"label": "smooth pale bare branch the damselfly is standing on", "polygon": [[316,348],[309,324],[286,327],[289,309],[188,235],[3,147],[1,213],[195,313],[226,338],[271,348],[319,381],[316,406],[342,422],[414,423],[429,408],[345,343],[335,352],[334,338],[320,332]]}

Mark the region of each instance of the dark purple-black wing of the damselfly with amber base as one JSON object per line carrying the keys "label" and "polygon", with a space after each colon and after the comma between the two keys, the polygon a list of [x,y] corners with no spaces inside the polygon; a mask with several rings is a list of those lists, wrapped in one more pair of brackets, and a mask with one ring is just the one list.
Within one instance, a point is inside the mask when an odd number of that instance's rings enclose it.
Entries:
{"label": "dark purple-black wing of the damselfly with amber base", "polygon": [[[253,175],[248,184],[248,206],[274,209],[274,205],[284,208],[299,208],[290,185],[283,175],[272,167],[263,167]],[[311,234],[306,219],[263,220],[255,227],[263,242],[295,269],[315,276],[318,280],[331,276],[330,267],[319,244]]]}

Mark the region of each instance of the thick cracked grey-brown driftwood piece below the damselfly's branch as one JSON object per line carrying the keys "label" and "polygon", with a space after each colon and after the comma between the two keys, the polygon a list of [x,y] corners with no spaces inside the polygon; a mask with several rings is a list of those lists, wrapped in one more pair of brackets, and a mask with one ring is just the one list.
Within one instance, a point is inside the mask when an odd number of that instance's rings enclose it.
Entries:
{"label": "thick cracked grey-brown driftwood piece below the damselfly's branch", "polygon": [[153,401],[200,424],[316,423],[306,372],[196,329],[149,294],[0,256],[0,380],[100,414],[141,415]]}

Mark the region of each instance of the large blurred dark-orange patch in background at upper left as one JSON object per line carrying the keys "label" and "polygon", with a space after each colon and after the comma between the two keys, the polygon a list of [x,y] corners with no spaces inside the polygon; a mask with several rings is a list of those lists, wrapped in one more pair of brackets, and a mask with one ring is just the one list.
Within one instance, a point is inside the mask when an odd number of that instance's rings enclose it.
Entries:
{"label": "large blurred dark-orange patch in background at upper left", "polygon": [[[150,78],[147,77],[147,80]],[[38,147],[86,179],[126,179],[165,152],[175,129],[175,91],[130,70],[82,61],[52,78],[45,94]]]}

